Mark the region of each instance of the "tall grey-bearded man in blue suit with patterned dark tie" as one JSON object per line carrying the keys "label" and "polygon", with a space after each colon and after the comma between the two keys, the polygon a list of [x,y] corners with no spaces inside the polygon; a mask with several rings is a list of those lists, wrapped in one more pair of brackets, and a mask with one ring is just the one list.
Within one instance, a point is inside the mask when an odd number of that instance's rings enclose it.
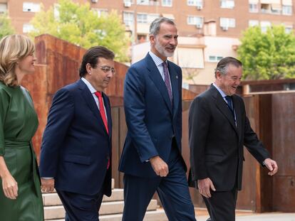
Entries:
{"label": "tall grey-bearded man in blue suit with patterned dark tie", "polygon": [[150,25],[150,52],[125,78],[128,134],[120,159],[124,172],[123,221],[141,221],[157,191],[170,221],[195,220],[181,156],[182,72],[167,61],[177,46],[168,18]]}

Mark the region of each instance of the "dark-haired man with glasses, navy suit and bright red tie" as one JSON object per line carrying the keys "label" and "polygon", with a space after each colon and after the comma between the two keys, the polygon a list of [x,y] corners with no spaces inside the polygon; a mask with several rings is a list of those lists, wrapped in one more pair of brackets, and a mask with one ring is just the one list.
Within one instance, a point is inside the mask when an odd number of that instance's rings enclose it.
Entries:
{"label": "dark-haired man with glasses, navy suit and bright red tie", "polygon": [[114,53],[90,48],[81,79],[56,92],[43,134],[42,189],[56,188],[66,221],[97,221],[103,195],[111,194],[110,101],[103,93],[115,74]]}

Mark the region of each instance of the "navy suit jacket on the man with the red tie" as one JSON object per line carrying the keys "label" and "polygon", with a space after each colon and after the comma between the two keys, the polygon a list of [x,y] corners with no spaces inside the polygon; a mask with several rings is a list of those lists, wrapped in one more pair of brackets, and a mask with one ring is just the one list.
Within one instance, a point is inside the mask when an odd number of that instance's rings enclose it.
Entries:
{"label": "navy suit jacket on the man with the red tie", "polygon": [[[41,177],[55,178],[56,189],[94,195],[103,187],[111,194],[112,119],[110,101],[103,94],[107,133],[93,95],[82,80],[56,92],[43,134]],[[111,163],[110,163],[111,165]]]}

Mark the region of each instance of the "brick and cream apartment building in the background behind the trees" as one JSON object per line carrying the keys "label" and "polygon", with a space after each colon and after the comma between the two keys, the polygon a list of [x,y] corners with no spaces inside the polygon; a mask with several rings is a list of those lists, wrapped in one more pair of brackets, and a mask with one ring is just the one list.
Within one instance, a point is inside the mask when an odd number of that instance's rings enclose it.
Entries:
{"label": "brick and cream apartment building in the background behind the trees", "polygon": [[[76,0],[90,4],[98,16],[118,11],[126,31],[133,36],[133,61],[148,51],[151,21],[159,16],[172,18],[179,31],[179,46],[172,58],[184,68],[187,78],[208,84],[214,65],[224,56],[236,56],[239,38],[249,26],[266,30],[283,24],[294,31],[295,0]],[[47,10],[57,0],[0,0],[0,13],[7,12],[18,33],[33,28],[29,21],[41,4]],[[46,24],[45,24],[46,25]],[[142,44],[140,44],[142,43]],[[186,73],[187,72],[187,73]],[[185,78],[184,78],[184,81]],[[187,80],[192,83],[192,79]]]}

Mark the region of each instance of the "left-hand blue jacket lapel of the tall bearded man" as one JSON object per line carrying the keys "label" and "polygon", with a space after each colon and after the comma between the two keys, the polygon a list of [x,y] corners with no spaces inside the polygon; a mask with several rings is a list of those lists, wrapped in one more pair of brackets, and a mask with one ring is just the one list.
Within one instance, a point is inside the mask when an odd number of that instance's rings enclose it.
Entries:
{"label": "left-hand blue jacket lapel of the tall bearded man", "polygon": [[160,94],[162,95],[163,99],[165,100],[165,103],[167,104],[168,109],[172,114],[172,104],[170,102],[165,82],[162,79],[162,76],[159,70],[157,69],[157,66],[155,65],[154,61],[152,60],[149,54],[145,57],[145,60],[147,62],[147,68],[150,71],[150,79],[152,80],[152,82],[154,82],[155,86],[157,87],[157,90],[160,91]]}

